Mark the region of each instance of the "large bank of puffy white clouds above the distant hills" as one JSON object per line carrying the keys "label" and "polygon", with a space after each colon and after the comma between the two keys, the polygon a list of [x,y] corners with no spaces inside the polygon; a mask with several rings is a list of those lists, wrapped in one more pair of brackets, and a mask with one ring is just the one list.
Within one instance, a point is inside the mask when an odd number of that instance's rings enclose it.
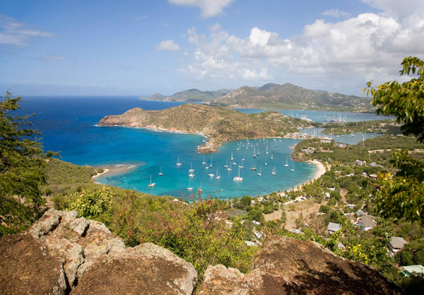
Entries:
{"label": "large bank of puffy white clouds above the distant hills", "polygon": [[230,35],[219,24],[209,27],[208,35],[190,28],[186,37],[193,49],[182,70],[194,79],[225,81],[266,80],[275,73],[310,77],[317,88],[337,83],[362,89],[370,79],[399,79],[404,57],[424,56],[424,13],[416,13],[424,2],[409,8],[409,16],[392,13],[398,6],[393,3],[385,13],[361,13],[339,22],[318,19],[290,38],[257,27],[247,37]]}

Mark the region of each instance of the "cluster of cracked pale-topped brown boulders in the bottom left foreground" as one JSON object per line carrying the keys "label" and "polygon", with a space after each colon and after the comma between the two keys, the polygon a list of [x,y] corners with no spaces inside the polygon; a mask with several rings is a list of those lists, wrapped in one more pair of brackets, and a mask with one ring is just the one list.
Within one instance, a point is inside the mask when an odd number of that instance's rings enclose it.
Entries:
{"label": "cluster of cracked pale-topped brown boulders in the bottom left foreground", "polygon": [[0,258],[1,294],[192,294],[197,280],[193,265],[169,250],[125,248],[75,211],[49,209],[27,233],[1,238]]}

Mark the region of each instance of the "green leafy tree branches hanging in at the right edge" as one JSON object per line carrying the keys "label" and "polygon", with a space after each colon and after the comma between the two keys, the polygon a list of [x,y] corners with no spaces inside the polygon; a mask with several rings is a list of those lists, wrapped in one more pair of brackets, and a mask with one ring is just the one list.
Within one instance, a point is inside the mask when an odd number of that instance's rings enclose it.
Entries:
{"label": "green leafy tree branches hanging in at the right edge", "polygon": [[[401,63],[401,75],[416,75],[411,81],[389,81],[377,88],[367,83],[367,94],[378,106],[377,114],[394,115],[404,134],[416,135],[424,141],[424,62],[417,57],[406,57]],[[364,91],[366,88],[364,89]],[[399,171],[396,175],[380,175],[374,201],[382,216],[406,217],[408,221],[424,224],[424,161],[408,156],[408,151],[395,152],[391,163]]]}

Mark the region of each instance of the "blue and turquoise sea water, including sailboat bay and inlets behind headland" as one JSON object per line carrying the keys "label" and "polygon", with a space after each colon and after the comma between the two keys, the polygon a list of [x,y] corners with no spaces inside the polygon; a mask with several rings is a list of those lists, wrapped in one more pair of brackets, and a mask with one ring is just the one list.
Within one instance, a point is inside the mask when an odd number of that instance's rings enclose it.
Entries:
{"label": "blue and turquoise sea water, including sailboat bay and inlets behind headland", "polygon": [[[213,154],[198,154],[197,146],[204,144],[205,137],[195,134],[158,132],[150,129],[129,127],[98,127],[105,115],[119,115],[130,108],[161,110],[182,103],[164,103],[139,100],[137,97],[25,97],[19,115],[35,113],[31,117],[33,128],[42,132],[42,142],[47,151],[59,151],[61,159],[77,165],[129,165],[125,173],[100,176],[98,183],[116,185],[153,195],[187,197],[199,187],[203,195],[228,199],[243,195],[266,195],[278,190],[287,190],[310,180],[316,166],[306,162],[293,163],[290,154],[298,139],[250,139],[232,141],[220,146]],[[259,110],[242,110],[258,112]],[[298,114],[311,120],[326,120],[324,117],[341,116],[343,120],[381,120],[387,117],[373,114],[281,111],[285,115]],[[290,113],[291,112],[291,113]],[[296,117],[296,115],[293,115]],[[377,136],[379,134],[375,134]],[[338,139],[338,138],[337,138]],[[336,141],[338,141],[336,139]],[[351,144],[362,140],[360,134],[349,137]],[[356,142],[354,142],[356,141]],[[342,142],[342,141],[341,141]],[[268,146],[268,154],[266,154]],[[259,155],[253,157],[254,149]],[[232,154],[232,160],[231,160]],[[182,163],[177,166],[177,159]],[[242,161],[244,159],[244,161]],[[286,160],[287,159],[287,160]],[[202,162],[207,163],[202,163]],[[289,167],[284,164],[288,161]],[[232,170],[228,170],[225,165]],[[235,163],[235,164],[233,164]],[[267,165],[266,165],[266,164]],[[242,181],[233,180],[238,175]],[[252,170],[252,166],[257,170]],[[189,177],[192,167],[194,177]],[[208,167],[208,168],[206,168]],[[295,172],[291,172],[294,168]],[[272,175],[272,170],[276,175]],[[159,176],[162,170],[163,176]],[[262,176],[258,173],[261,172]],[[220,179],[216,179],[216,175]],[[209,174],[213,174],[210,176]],[[148,184],[156,183],[155,187]],[[193,187],[189,191],[187,187]]]}

